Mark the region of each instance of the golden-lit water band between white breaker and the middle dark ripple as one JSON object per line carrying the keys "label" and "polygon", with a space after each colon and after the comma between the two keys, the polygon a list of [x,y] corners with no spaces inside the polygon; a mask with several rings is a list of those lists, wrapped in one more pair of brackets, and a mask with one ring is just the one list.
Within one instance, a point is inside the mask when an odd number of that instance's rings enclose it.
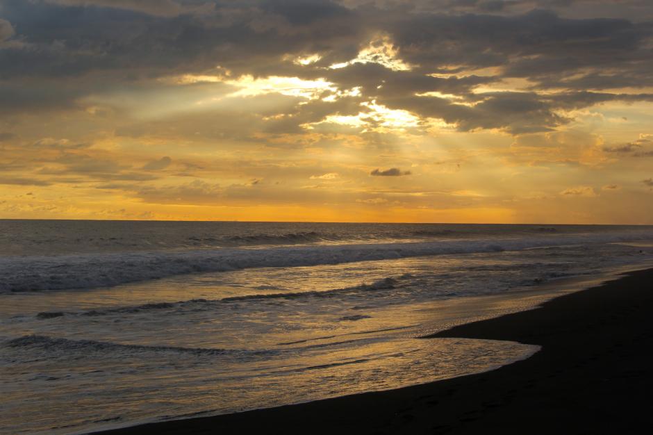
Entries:
{"label": "golden-lit water band between white breaker and the middle dark ripple", "polygon": [[[252,268],[231,272],[190,274],[152,281],[124,284],[112,288],[72,290],[67,292],[32,292],[12,295],[12,304],[3,308],[6,314],[38,313],[40,311],[99,309],[106,306],[133,306],[156,302],[190,299],[222,299],[273,293],[323,292],[371,284],[388,277],[414,276],[413,288],[431,291],[427,300],[457,290],[461,295],[474,290],[488,292],[490,286],[504,291],[522,281],[497,279],[513,268],[515,275],[533,273],[537,265],[521,263],[537,253],[493,252],[491,254],[438,255],[400,258],[383,261],[360,261],[336,265],[296,266],[288,268]],[[548,265],[550,267],[550,265]],[[476,270],[476,272],[475,272]],[[497,275],[487,282],[488,274]],[[420,281],[433,277],[431,281]],[[478,278],[482,278],[479,280]],[[519,277],[518,277],[519,278]],[[527,279],[525,280],[527,281]],[[407,283],[411,284],[411,283]],[[429,284],[432,288],[428,288]],[[395,289],[397,290],[397,289]],[[392,292],[393,297],[397,291]],[[414,293],[414,292],[413,292]],[[379,304],[377,292],[366,304]],[[369,296],[369,295],[367,295]],[[448,294],[448,296],[453,296]],[[268,302],[272,303],[272,302]]]}

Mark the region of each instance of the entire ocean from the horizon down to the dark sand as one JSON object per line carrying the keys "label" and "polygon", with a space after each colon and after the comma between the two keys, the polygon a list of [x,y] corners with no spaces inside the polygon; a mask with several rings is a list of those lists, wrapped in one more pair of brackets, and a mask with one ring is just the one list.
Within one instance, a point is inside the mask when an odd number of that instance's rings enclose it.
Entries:
{"label": "entire ocean from the horizon down to the dark sand", "polygon": [[0,220],[0,432],[76,434],[492,370],[422,339],[653,263],[653,227]]}

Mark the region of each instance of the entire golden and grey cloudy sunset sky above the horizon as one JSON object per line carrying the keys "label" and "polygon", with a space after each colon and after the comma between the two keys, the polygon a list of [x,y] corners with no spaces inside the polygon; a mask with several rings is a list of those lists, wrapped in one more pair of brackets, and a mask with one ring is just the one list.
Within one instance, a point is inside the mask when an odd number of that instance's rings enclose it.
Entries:
{"label": "entire golden and grey cloudy sunset sky above the horizon", "polygon": [[653,224],[653,1],[0,0],[0,218]]}

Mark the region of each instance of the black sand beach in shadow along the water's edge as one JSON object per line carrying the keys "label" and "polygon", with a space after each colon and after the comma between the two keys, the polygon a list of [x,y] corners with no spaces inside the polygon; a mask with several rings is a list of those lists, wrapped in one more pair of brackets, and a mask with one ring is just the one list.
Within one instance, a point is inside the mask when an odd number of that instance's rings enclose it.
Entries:
{"label": "black sand beach in shadow along the water's edge", "polygon": [[631,272],[538,309],[433,335],[542,346],[531,358],[498,370],[392,391],[104,433],[650,433],[652,313],[653,270]]}

